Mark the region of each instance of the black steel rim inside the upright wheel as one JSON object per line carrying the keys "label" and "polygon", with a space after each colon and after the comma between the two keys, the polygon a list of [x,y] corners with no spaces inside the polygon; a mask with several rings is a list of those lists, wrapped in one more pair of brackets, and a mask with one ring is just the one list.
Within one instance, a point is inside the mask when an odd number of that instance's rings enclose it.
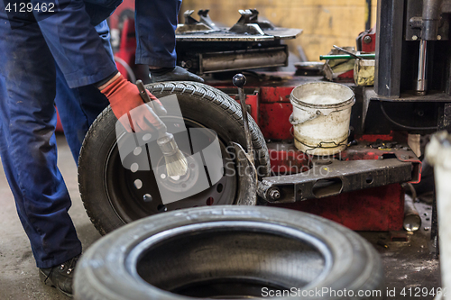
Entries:
{"label": "black steel rim inside the upright wheel", "polygon": [[[181,122],[185,123],[187,129],[205,128],[202,124],[187,118],[181,120],[178,118],[167,117],[164,120],[164,123],[168,126],[168,132],[171,132],[171,128],[178,128]],[[177,134],[174,134],[174,136],[177,141]],[[121,138],[123,138],[123,136],[119,137],[117,140],[120,141]],[[205,138],[211,140],[211,136],[206,135]],[[233,161],[233,159],[226,151],[225,143],[221,140],[221,137],[218,137],[218,141],[221,148],[223,166],[225,166],[227,161]],[[144,147],[140,148],[145,149]],[[180,147],[180,150],[185,154],[185,156],[189,156],[189,149],[182,149],[182,147]],[[154,142],[149,143],[147,150],[144,151],[151,152],[160,150]],[[128,164],[130,169],[124,168],[119,156],[117,141],[115,141],[110,147],[104,168],[106,195],[108,196],[110,205],[115,210],[115,214],[117,214],[117,216],[124,223],[131,223],[151,214],[160,214],[166,211],[181,208],[197,207],[202,205],[234,204],[237,190],[235,169],[232,170],[231,168],[224,168],[223,177],[221,177],[215,185],[210,186],[207,190],[204,190],[196,195],[191,195],[186,199],[163,205],[161,201],[161,194],[155,179],[155,174],[152,169],[142,171],[132,168],[132,164],[134,163],[133,152],[124,159],[124,164]],[[158,161],[159,166],[164,165],[162,154]],[[192,162],[190,163],[189,161],[189,169],[191,169],[192,165]],[[195,167],[199,168],[199,166]],[[168,181],[170,181],[170,178],[168,178]],[[193,184],[195,185],[193,182],[190,182],[189,184],[191,186]],[[165,186],[165,188],[170,189],[170,185]]]}

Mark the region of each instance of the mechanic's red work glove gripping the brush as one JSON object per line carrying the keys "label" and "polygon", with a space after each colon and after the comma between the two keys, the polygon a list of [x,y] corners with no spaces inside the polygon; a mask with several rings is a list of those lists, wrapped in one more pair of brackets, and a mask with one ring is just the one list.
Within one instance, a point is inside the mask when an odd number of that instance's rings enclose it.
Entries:
{"label": "mechanic's red work glove gripping the brush", "polygon": [[[124,125],[127,132],[153,132],[154,129],[160,129],[161,120],[155,116],[151,107],[143,103],[138,87],[120,73],[118,74],[119,76],[113,78],[114,81],[100,89],[100,92],[108,98],[117,120]],[[160,100],[151,93],[147,93],[154,103],[155,110],[158,110],[160,114],[166,114]]]}

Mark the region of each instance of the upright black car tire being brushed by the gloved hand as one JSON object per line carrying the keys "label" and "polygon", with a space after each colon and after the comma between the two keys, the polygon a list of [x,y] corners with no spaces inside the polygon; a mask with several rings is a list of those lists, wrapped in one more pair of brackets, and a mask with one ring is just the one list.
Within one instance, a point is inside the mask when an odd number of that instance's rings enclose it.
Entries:
{"label": "upright black car tire being brushed by the gloved hand", "polygon": [[[230,141],[246,144],[241,107],[225,93],[195,82],[155,83],[146,88],[159,98],[177,95],[183,122],[189,126],[215,131],[223,148],[228,147]],[[167,109],[170,111],[173,107]],[[237,180],[236,177],[227,177],[224,185],[216,183],[216,186],[211,186],[207,191],[186,200],[163,205],[152,170],[133,173],[123,167],[116,144],[116,122],[115,114],[108,106],[89,128],[78,159],[81,199],[91,222],[101,234],[166,210],[212,203],[233,205],[236,199],[240,198],[238,194],[241,192],[233,182]],[[271,171],[266,143],[251,117],[249,123],[255,150],[255,165],[260,176],[268,176]],[[235,164],[233,158],[227,159],[231,159]],[[136,183],[139,186],[136,186]],[[148,195],[152,195],[152,202],[143,201]]]}

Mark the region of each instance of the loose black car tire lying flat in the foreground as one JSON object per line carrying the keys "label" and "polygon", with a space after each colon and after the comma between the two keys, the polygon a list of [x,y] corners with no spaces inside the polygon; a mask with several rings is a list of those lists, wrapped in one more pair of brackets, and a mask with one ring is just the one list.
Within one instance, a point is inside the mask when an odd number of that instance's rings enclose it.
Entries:
{"label": "loose black car tire lying flat in the foreground", "polygon": [[87,250],[74,280],[77,300],[283,291],[292,294],[277,298],[383,299],[385,292],[379,254],[357,233],[265,206],[198,207],[127,224]]}

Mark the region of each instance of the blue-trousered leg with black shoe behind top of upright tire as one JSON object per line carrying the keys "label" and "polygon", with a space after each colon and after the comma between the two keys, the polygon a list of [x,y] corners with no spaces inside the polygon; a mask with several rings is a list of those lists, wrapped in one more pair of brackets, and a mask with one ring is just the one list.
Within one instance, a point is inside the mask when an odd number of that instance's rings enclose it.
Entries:
{"label": "blue-trousered leg with black shoe behind top of upright tire", "polygon": [[204,81],[176,66],[175,30],[180,5],[181,0],[136,1],[136,63],[149,66],[152,82]]}

